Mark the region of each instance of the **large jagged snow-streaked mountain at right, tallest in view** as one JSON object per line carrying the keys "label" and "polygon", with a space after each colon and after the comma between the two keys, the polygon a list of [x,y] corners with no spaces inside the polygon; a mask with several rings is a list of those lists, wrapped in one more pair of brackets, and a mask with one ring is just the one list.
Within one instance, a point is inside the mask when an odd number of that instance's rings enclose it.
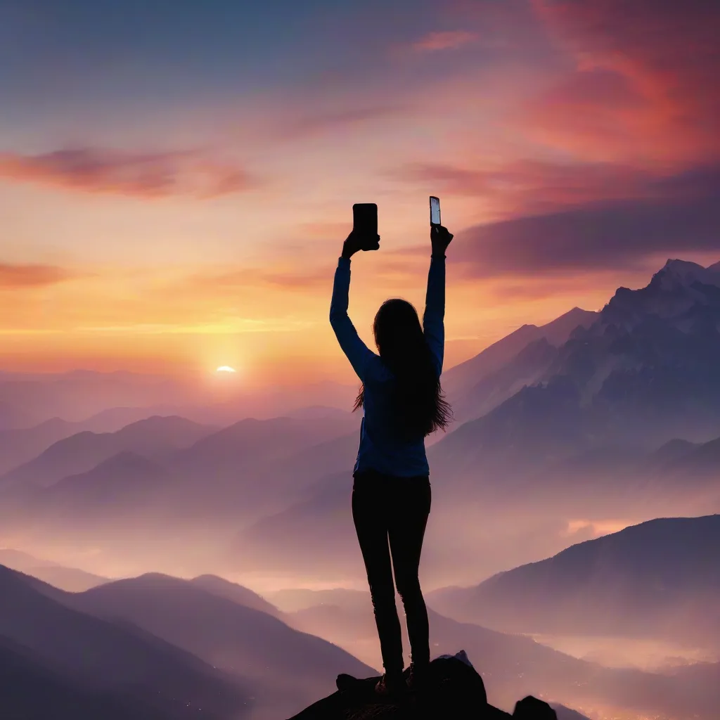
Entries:
{"label": "large jagged snow-streaked mountain at right, tallest in view", "polygon": [[[538,345],[537,364],[520,362],[513,374],[516,356],[497,377],[466,385],[461,415],[471,400],[480,403],[477,413],[486,400],[492,406],[493,398],[514,394],[438,441],[431,448],[436,472],[476,484],[488,474],[531,473],[546,481],[546,464],[593,448],[650,451],[672,438],[720,436],[718,278],[716,268],[667,261],[647,287],[619,288],[595,322],[578,326],[557,347],[548,366],[552,348],[544,356]],[[526,387],[518,390],[520,382]]]}

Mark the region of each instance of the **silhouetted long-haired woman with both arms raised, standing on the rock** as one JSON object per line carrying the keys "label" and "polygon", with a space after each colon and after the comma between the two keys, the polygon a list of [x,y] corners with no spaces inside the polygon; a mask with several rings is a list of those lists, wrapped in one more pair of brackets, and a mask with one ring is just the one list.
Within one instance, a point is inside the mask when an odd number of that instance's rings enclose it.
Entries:
{"label": "silhouetted long-haired woman with both arms raised, standing on the rock", "polygon": [[364,418],[353,472],[352,513],[380,638],[384,675],[376,690],[382,695],[406,687],[393,570],[408,624],[411,688],[418,686],[430,663],[428,611],[418,569],[431,504],[425,436],[445,429],[451,419],[440,374],[445,251],[452,238],[446,228],[432,226],[422,328],[418,312],[406,300],[387,300],[377,311],[373,331],[379,355],[361,341],[348,318],[350,258],[368,246],[368,238],[348,235],[335,271],[330,325],[362,383],[354,408],[364,408]]}

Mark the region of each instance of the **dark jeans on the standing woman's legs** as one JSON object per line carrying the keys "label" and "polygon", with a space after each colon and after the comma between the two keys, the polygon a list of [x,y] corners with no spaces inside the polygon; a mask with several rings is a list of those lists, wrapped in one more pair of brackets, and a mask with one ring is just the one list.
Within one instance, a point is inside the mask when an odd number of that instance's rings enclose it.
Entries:
{"label": "dark jeans on the standing woman's legs", "polygon": [[413,662],[430,660],[428,611],[418,580],[430,513],[430,480],[377,472],[357,473],[354,479],[353,521],[367,570],[382,664],[385,672],[399,672],[404,662],[392,570],[405,608]]}

